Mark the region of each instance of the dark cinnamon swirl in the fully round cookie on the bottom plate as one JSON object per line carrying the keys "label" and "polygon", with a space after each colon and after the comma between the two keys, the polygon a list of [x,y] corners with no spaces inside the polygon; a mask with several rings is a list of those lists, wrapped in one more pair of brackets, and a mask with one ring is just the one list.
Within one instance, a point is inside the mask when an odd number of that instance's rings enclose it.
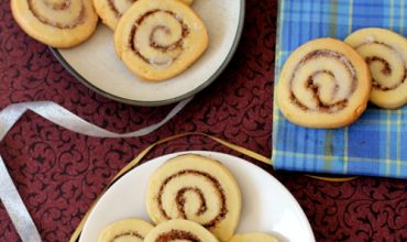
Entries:
{"label": "dark cinnamon swirl in the fully round cookie on the bottom plate", "polygon": [[[204,173],[204,172],[199,172],[199,170],[194,170],[194,169],[185,169],[185,170],[180,170],[169,177],[167,177],[163,185],[160,187],[160,191],[158,191],[158,197],[157,197],[157,201],[158,201],[158,209],[161,211],[161,213],[163,215],[163,217],[165,217],[166,219],[172,219],[167,212],[165,211],[165,209],[163,208],[163,193],[165,190],[165,187],[167,186],[167,184],[169,182],[172,182],[173,179],[175,178],[179,178],[182,176],[185,176],[185,175],[194,175],[194,176],[200,176],[200,177],[204,177],[207,182],[209,182],[209,184],[216,189],[217,194],[218,194],[218,197],[220,199],[220,202],[221,202],[221,206],[219,208],[219,212],[218,215],[210,221],[204,223],[202,226],[206,227],[206,228],[212,228],[215,227],[216,224],[219,223],[219,221],[223,220],[224,217],[227,216],[228,213],[228,208],[227,208],[227,197],[224,195],[224,190],[222,188],[222,186],[219,184],[219,182],[210,176],[209,174],[207,173]],[[204,215],[205,211],[207,211],[207,205],[206,205],[206,198],[205,198],[205,195],[204,193],[198,188],[198,187],[183,187],[182,189],[179,189],[176,194],[176,205],[177,205],[177,211],[179,212],[180,217],[183,219],[188,219],[187,218],[187,215],[185,212],[185,204],[186,204],[186,199],[185,199],[185,194],[186,193],[195,193],[198,195],[199,197],[199,208],[198,210],[196,211],[196,215],[199,216],[199,215]]]}

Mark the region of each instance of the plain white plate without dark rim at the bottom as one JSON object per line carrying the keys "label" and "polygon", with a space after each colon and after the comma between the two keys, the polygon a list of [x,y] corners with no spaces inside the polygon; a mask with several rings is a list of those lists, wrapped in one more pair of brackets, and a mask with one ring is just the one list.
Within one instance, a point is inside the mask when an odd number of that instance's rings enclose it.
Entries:
{"label": "plain white plate without dark rim at the bottom", "polygon": [[[79,241],[97,241],[99,232],[106,226],[120,219],[138,217],[151,221],[144,201],[148,178],[165,161],[183,153],[154,158],[121,177],[90,212]],[[238,232],[267,232],[280,241],[315,241],[312,230],[298,202],[273,176],[244,160],[228,154],[201,151],[188,153],[218,160],[237,177],[243,196]]]}

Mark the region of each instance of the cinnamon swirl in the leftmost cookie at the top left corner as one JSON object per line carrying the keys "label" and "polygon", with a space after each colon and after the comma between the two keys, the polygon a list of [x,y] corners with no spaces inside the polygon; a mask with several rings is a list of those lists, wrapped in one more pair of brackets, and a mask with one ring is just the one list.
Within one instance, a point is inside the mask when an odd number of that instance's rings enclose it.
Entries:
{"label": "cinnamon swirl in the leftmost cookie at the top left corner", "polygon": [[[46,25],[51,25],[57,29],[74,29],[85,22],[86,8],[82,1],[80,1],[80,10],[77,12],[77,15],[69,18],[69,21],[64,22],[58,22],[55,20],[55,18],[50,18],[47,11],[54,12],[53,15],[67,14],[67,10],[73,7],[72,0],[65,0],[56,3],[50,2],[47,0],[42,0],[41,3],[42,4],[40,4],[40,0],[28,0],[30,11],[40,22]],[[45,9],[41,9],[41,6],[45,7]],[[72,12],[73,11],[69,11],[69,13]]]}

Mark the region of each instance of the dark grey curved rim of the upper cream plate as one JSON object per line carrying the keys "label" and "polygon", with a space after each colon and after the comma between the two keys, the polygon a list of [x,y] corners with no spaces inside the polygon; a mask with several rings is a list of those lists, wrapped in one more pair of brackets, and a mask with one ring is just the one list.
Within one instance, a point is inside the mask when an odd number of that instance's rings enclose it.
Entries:
{"label": "dark grey curved rim of the upper cream plate", "polygon": [[212,84],[221,73],[223,73],[224,68],[228,66],[228,64],[230,63],[230,61],[232,59],[232,57],[234,56],[234,53],[237,52],[237,48],[239,46],[239,43],[240,43],[240,40],[242,37],[242,33],[243,33],[243,25],[244,25],[244,19],[245,19],[245,0],[240,0],[240,4],[241,4],[241,8],[240,8],[240,11],[239,11],[239,22],[238,22],[238,30],[237,30],[237,33],[234,35],[234,41],[232,43],[232,46],[231,48],[229,50],[228,52],[228,55],[226,56],[226,58],[223,59],[223,62],[221,63],[221,65],[219,66],[219,68],[206,80],[204,81],[201,85],[199,85],[198,87],[196,87],[195,89],[184,94],[184,95],[180,95],[180,96],[177,96],[177,97],[174,97],[174,98],[169,98],[169,99],[165,99],[165,100],[160,100],[160,101],[142,101],[142,100],[134,100],[134,99],[129,99],[129,98],[122,98],[122,97],[119,97],[117,95],[112,95],[99,87],[96,87],[94,84],[91,84],[89,80],[87,80],[85,77],[82,77],[74,67],[72,67],[69,65],[69,63],[63,57],[63,55],[59,53],[58,48],[54,48],[54,47],[51,47],[48,46],[51,53],[54,55],[54,57],[59,62],[59,64],[66,69],[68,70],[68,73],[74,76],[77,80],[79,80],[81,84],[84,84],[87,88],[94,90],[95,92],[106,97],[106,98],[109,98],[111,100],[114,100],[114,101],[119,101],[119,102],[122,102],[122,103],[127,103],[127,105],[132,105],[132,106],[141,106],[141,107],[160,107],[160,106],[166,106],[166,105],[172,105],[172,103],[175,103],[177,101],[182,101],[184,99],[187,99],[196,94],[198,94],[199,91],[204,90],[205,88],[207,88],[210,84]]}

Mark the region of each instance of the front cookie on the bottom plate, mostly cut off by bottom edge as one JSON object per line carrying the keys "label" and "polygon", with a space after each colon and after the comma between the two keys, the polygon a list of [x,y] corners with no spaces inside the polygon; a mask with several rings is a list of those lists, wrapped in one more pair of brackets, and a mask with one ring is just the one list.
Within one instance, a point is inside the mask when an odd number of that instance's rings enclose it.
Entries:
{"label": "front cookie on the bottom plate, mostly cut off by bottom edge", "polygon": [[218,242],[208,230],[188,220],[169,220],[152,229],[144,242]]}

